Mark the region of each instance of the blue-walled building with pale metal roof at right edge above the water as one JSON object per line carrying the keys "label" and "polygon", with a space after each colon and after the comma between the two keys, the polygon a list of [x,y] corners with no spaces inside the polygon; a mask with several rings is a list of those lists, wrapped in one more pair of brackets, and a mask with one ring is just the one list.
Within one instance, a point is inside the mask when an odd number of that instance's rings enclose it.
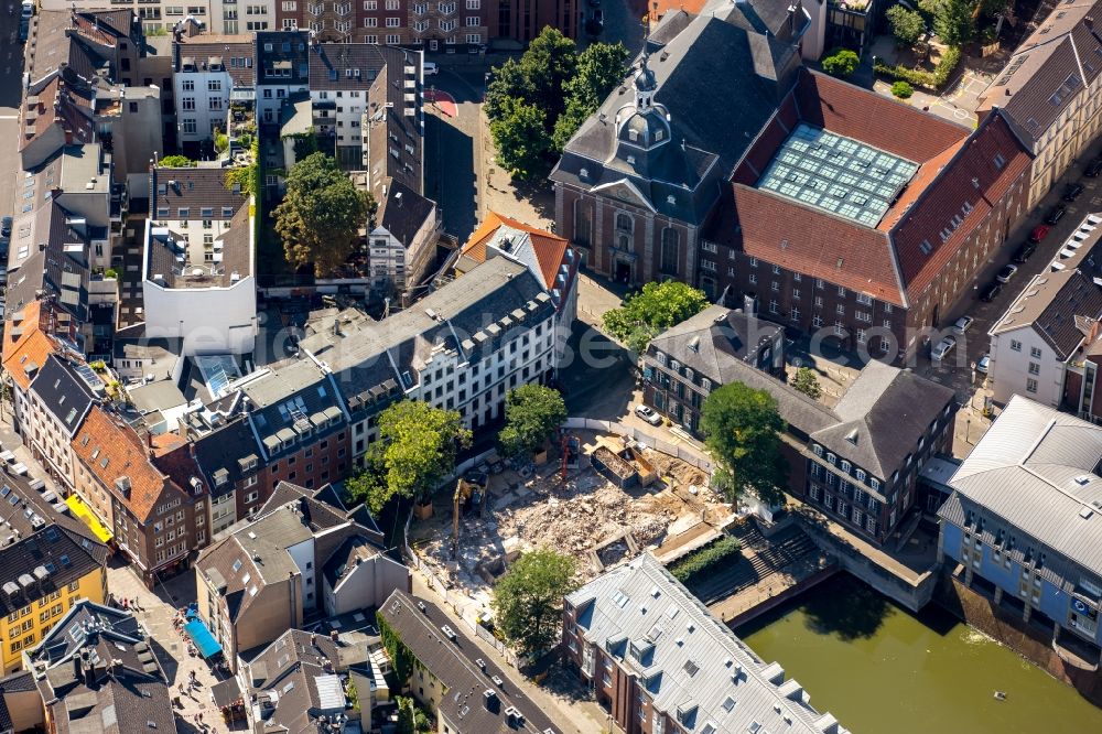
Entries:
{"label": "blue-walled building with pale metal roof at right edge above the water", "polygon": [[1071,668],[1102,660],[1102,429],[1014,396],[949,481],[940,560]]}

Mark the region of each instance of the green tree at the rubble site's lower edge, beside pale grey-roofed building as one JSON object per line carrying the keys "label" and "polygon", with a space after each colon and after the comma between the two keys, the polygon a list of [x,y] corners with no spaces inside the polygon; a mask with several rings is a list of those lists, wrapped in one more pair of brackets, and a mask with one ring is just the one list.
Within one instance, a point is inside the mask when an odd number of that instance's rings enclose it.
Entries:
{"label": "green tree at the rubble site's lower edge, beside pale grey-roofed building", "polygon": [[562,597],[577,589],[577,563],[539,549],[517,559],[494,586],[497,626],[522,654],[542,652],[562,629]]}

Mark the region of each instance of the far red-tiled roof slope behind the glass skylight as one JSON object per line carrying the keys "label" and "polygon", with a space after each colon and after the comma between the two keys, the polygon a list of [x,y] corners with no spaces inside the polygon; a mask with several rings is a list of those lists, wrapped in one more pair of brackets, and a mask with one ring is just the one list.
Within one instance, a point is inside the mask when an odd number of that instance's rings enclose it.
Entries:
{"label": "far red-tiled roof slope behind the glass skylight", "polygon": [[800,75],[796,100],[808,125],[916,163],[969,136],[968,128],[817,72]]}

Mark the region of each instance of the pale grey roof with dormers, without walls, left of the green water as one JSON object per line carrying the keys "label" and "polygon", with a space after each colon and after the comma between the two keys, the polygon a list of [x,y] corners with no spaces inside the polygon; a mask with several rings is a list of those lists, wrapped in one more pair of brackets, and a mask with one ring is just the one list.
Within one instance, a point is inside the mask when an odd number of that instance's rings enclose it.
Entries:
{"label": "pale grey roof with dormers, without walls, left of the green water", "polygon": [[[679,709],[695,706],[681,724],[690,734],[846,732],[831,714],[811,708],[799,683],[785,682],[784,668],[758,658],[649,553],[596,578],[566,602],[576,609],[579,635],[638,674],[655,709],[677,720]],[[633,645],[652,649],[640,660]]]}

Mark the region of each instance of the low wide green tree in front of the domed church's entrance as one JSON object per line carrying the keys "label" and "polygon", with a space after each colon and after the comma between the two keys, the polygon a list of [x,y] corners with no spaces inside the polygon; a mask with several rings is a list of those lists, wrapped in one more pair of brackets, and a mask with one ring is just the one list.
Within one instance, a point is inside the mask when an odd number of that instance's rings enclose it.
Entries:
{"label": "low wide green tree in front of the domed church's entrance", "polygon": [[641,354],[656,334],[706,307],[704,291],[692,285],[673,280],[650,282],[629,295],[619,309],[606,311],[602,322],[605,331]]}

